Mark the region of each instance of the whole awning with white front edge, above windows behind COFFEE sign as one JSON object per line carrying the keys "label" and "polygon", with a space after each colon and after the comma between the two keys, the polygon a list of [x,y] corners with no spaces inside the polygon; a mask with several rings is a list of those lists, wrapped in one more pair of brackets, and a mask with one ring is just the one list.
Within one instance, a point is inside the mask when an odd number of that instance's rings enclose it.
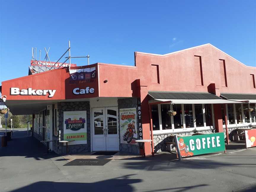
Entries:
{"label": "whole awning with white front edge, above windows behind COFFEE sign", "polygon": [[239,101],[226,100],[208,92],[162,92],[149,91],[152,97],[149,103],[173,103],[173,104],[217,104],[217,103],[241,103]]}

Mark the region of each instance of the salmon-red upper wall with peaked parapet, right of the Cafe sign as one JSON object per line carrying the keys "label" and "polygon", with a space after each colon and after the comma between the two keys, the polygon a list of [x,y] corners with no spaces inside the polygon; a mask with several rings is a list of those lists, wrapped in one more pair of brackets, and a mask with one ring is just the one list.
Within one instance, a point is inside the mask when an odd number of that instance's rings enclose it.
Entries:
{"label": "salmon-red upper wall with peaked parapet, right of the Cafe sign", "polygon": [[[201,56],[204,86],[196,83],[195,55]],[[227,87],[222,86],[220,59],[225,60]],[[100,96],[131,97],[135,79],[145,79],[148,90],[155,91],[208,92],[209,84],[215,83],[220,85],[220,92],[256,94],[250,76],[256,68],[239,63],[209,44],[165,56],[135,52],[135,62],[136,67],[99,63]],[[159,66],[159,83],[152,82],[156,77],[152,77],[151,65]],[[108,82],[104,84],[105,79]]]}

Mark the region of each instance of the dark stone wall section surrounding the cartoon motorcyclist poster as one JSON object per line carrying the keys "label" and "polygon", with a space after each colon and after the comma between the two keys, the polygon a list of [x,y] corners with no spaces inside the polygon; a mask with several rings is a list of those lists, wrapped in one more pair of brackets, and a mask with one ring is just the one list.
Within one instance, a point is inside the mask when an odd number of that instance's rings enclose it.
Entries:
{"label": "dark stone wall section surrounding the cartoon motorcyclist poster", "polygon": [[[134,107],[136,108],[137,127],[138,127],[137,98],[132,97],[132,98],[128,98],[128,99],[119,99],[119,100],[117,100],[117,102],[118,102],[118,112],[119,112],[119,109],[134,108]],[[118,116],[119,116],[119,114],[118,114]],[[138,132],[137,132],[137,134],[138,134]],[[123,137],[123,135],[120,135],[120,119],[119,119],[119,143],[120,143],[120,139],[122,137]],[[139,138],[139,136],[137,138]],[[131,144],[120,143],[119,144],[119,151],[133,153],[133,154],[140,154],[139,145],[131,145]]]}

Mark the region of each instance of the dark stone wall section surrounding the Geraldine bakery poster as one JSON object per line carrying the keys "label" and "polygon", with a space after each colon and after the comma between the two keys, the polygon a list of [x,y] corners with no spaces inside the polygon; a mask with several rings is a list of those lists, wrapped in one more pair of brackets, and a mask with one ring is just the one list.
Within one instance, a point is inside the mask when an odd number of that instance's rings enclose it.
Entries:
{"label": "dark stone wall section surrounding the Geraldine bakery poster", "polygon": [[[90,103],[89,101],[83,102],[60,102],[58,103],[58,128],[61,131],[60,139],[64,140],[63,133],[63,111],[87,111],[87,144],[68,145],[70,153],[88,152],[91,151],[91,126],[90,126]],[[58,138],[53,136],[54,140]],[[53,151],[57,154],[66,154],[66,146],[62,143],[53,142]]]}

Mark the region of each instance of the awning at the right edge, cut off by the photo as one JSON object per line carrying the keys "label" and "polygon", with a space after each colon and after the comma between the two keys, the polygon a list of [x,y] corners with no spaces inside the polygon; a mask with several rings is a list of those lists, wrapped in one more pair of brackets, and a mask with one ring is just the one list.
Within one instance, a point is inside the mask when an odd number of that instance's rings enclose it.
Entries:
{"label": "awning at the right edge, cut off by the photo", "polygon": [[256,94],[221,93],[220,97],[232,101],[256,103]]}

